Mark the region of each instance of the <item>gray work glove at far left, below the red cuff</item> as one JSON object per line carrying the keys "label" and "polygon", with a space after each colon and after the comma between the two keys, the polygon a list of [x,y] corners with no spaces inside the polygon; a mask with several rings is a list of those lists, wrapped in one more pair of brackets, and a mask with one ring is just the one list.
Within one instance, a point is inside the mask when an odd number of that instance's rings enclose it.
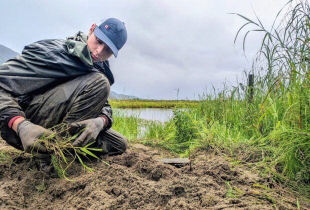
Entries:
{"label": "gray work glove at far left, below the red cuff", "polygon": [[20,137],[23,150],[27,153],[36,154],[46,153],[46,148],[40,144],[35,143],[34,141],[41,137],[43,134],[46,136],[53,134],[52,131],[41,127],[40,125],[33,124],[29,120],[24,119],[20,121],[16,129],[17,135]]}

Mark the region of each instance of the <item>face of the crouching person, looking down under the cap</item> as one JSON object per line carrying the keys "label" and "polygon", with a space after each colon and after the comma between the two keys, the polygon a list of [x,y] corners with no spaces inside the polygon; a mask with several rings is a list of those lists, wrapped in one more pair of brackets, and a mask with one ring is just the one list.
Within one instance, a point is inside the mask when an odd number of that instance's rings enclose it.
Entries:
{"label": "face of the crouching person, looking down under the cap", "polygon": [[112,56],[113,52],[103,41],[93,34],[95,26],[96,24],[92,24],[89,29],[87,46],[90,51],[92,62],[99,62],[107,60]]}

